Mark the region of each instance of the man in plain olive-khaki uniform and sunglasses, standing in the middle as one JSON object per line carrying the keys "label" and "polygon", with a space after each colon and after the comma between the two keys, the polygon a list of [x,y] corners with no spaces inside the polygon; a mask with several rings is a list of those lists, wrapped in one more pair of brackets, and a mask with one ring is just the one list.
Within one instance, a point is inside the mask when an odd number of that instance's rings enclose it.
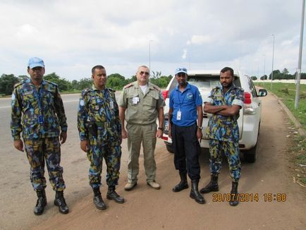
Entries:
{"label": "man in plain olive-khaki uniform and sunglasses, standing in the middle", "polygon": [[[137,81],[124,87],[118,103],[122,138],[128,138],[128,183],[124,188],[132,190],[137,185],[138,158],[142,143],[147,184],[159,189],[159,183],[155,181],[157,167],[154,150],[157,138],[161,138],[163,131],[165,102],[159,87],[149,83],[147,66],[138,68],[136,78]],[[126,128],[124,120],[127,121]]]}

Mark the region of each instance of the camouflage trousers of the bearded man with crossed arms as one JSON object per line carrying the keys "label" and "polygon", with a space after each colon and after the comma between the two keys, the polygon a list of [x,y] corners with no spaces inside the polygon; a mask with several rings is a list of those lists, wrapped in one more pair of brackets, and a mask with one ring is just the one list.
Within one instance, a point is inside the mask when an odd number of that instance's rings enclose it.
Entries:
{"label": "camouflage trousers of the bearded man with crossed arms", "polygon": [[228,167],[231,171],[233,182],[238,182],[241,173],[241,164],[239,157],[239,144],[227,141],[209,139],[209,169],[211,174],[219,174],[221,171],[222,155],[224,152],[228,160]]}

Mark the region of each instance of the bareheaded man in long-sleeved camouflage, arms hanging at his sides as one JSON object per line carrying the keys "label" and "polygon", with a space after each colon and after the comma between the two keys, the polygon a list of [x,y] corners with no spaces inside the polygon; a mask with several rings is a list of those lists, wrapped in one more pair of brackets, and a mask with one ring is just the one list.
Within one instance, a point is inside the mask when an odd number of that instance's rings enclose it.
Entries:
{"label": "bareheaded man in long-sleeved camouflage, arms hanging at his sides", "polygon": [[92,68],[94,84],[82,90],[78,109],[80,148],[90,160],[89,180],[94,191],[94,205],[105,210],[100,192],[102,161],[106,162],[106,183],[109,186],[106,198],[123,203],[116,193],[121,160],[121,123],[115,92],[106,88],[106,70],[103,66]]}

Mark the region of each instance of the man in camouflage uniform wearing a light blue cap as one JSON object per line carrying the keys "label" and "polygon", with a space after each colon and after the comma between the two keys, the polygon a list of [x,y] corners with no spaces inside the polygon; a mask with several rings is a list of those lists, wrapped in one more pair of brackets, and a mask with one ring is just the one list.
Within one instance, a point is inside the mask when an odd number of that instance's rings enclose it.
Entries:
{"label": "man in camouflage uniform wearing a light blue cap", "polygon": [[[43,79],[44,71],[44,61],[37,57],[31,58],[27,65],[30,78],[15,85],[12,95],[11,134],[17,150],[23,152],[23,142],[25,144],[30,163],[30,179],[38,197],[34,214],[42,214],[47,205],[44,191],[45,162],[49,181],[56,191],[54,205],[59,206],[59,212],[66,214],[68,206],[63,198],[66,186],[63,168],[60,166],[60,145],[67,138],[66,115],[59,89],[56,84]],[[21,132],[23,141],[20,140]]]}

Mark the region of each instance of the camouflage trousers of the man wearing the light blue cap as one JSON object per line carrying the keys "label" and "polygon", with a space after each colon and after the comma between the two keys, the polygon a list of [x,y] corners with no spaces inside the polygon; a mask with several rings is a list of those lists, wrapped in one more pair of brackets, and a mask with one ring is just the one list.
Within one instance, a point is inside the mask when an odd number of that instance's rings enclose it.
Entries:
{"label": "camouflage trousers of the man wearing the light blue cap", "polygon": [[59,138],[25,139],[24,143],[27,159],[30,163],[30,180],[34,190],[46,188],[45,163],[53,190],[64,190],[66,186],[63,181],[63,168],[60,166],[61,147]]}

